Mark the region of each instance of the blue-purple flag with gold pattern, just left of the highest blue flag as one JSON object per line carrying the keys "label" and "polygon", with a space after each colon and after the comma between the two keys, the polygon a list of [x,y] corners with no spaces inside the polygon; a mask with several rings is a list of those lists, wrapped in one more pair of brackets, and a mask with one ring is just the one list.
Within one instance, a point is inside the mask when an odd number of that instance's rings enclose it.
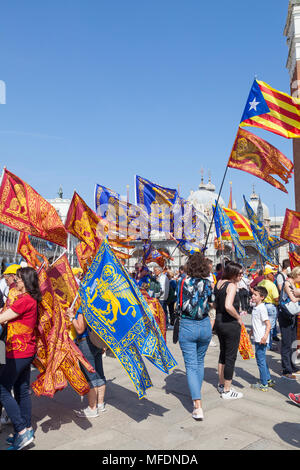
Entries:
{"label": "blue-purple flag with gold pattern, just left of the highest blue flag", "polygon": [[[116,237],[140,240],[148,236],[148,215],[142,208],[123,201],[120,194],[96,184],[95,209],[98,216],[115,224]],[[112,238],[112,234],[109,233]]]}

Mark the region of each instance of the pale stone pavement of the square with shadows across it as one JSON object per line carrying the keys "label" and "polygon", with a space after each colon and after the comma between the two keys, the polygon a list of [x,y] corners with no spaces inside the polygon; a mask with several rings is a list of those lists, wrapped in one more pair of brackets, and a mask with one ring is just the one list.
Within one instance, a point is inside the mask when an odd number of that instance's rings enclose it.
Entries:
{"label": "pale stone pavement of the square with shadows across it", "polygon": [[[250,316],[245,323],[249,325]],[[214,337],[218,344],[217,337]],[[244,393],[240,400],[224,401],[217,390],[219,347],[209,347],[202,388],[204,421],[191,417],[192,403],[179,344],[167,332],[167,344],[178,367],[165,375],[145,360],[153,381],[146,398],[139,400],[117,359],[104,358],[107,378],[107,411],[94,419],[77,418],[74,410],[86,406],[68,386],[53,399],[33,401],[36,429],[32,450],[296,450],[300,448],[300,408],[291,403],[289,392],[300,392],[299,381],[280,377],[280,354],[268,352],[273,390],[264,393],[250,388],[257,381],[255,359],[240,354],[233,385]],[[35,375],[36,372],[33,373]],[[11,425],[3,426],[0,450]]]}

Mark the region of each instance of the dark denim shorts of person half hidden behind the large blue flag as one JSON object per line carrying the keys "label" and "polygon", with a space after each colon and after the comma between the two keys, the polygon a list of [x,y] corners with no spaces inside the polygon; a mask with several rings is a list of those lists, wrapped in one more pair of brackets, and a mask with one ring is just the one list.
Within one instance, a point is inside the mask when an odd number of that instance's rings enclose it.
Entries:
{"label": "dark denim shorts of person half hidden behind the large blue flag", "polygon": [[106,384],[106,379],[103,371],[102,363],[102,349],[96,348],[90,341],[89,337],[82,338],[77,342],[77,345],[86,358],[86,360],[93,366],[96,372],[89,372],[81,363],[80,368],[88,381],[90,388],[101,387]]}

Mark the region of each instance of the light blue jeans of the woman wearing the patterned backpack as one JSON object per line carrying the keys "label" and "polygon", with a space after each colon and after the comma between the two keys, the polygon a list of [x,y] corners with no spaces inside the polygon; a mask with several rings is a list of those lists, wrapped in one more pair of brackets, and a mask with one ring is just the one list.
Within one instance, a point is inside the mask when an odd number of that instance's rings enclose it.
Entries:
{"label": "light blue jeans of the woman wearing the patterned backpack", "polygon": [[192,400],[201,399],[204,377],[204,357],[212,337],[209,317],[203,320],[182,318],[179,344],[182,351]]}

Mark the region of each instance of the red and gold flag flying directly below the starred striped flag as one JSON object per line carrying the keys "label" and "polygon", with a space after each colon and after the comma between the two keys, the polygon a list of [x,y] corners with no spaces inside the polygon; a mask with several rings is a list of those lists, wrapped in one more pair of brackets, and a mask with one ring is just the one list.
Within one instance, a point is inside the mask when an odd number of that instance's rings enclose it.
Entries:
{"label": "red and gold flag flying directly below the starred striped flag", "polygon": [[287,190],[282,182],[272,175],[287,184],[294,168],[293,163],[276,147],[245,129],[238,130],[227,165],[251,173],[285,193]]}

